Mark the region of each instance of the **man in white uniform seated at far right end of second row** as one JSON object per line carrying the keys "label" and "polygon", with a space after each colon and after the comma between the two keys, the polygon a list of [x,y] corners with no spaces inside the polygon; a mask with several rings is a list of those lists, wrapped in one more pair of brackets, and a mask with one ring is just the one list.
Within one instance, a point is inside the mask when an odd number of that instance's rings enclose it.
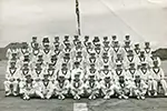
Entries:
{"label": "man in white uniform seated at far right end of second row", "polygon": [[158,92],[158,88],[163,88],[164,90],[164,94],[167,95],[167,83],[165,81],[165,74],[163,69],[158,65],[157,62],[154,62],[154,67],[151,67],[150,69],[150,73],[153,74],[153,79],[154,79],[154,90],[155,90],[155,95],[157,95]]}

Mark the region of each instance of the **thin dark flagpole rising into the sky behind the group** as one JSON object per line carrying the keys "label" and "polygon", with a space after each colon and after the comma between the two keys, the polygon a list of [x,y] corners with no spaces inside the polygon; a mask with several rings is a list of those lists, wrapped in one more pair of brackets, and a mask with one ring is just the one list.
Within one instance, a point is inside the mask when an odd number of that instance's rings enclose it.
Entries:
{"label": "thin dark flagpole rising into the sky behind the group", "polygon": [[77,32],[78,36],[81,34],[80,32],[80,11],[79,11],[79,1],[76,0],[76,16],[77,16]]}

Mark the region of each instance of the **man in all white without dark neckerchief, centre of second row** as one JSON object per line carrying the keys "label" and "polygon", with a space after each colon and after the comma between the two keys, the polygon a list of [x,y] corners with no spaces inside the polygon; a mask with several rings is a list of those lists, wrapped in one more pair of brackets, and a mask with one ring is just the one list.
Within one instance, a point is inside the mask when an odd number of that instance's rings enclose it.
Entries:
{"label": "man in all white without dark neckerchief, centre of second row", "polygon": [[75,79],[75,75],[79,74],[79,79],[82,80],[84,79],[84,70],[82,68],[80,68],[80,63],[79,62],[75,62],[73,69],[71,70],[71,79]]}

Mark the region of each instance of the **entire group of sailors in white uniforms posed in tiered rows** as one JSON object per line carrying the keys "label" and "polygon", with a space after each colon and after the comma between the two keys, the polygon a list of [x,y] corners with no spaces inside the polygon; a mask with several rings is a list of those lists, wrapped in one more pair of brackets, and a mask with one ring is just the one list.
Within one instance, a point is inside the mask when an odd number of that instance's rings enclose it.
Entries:
{"label": "entire group of sailors in white uniforms posed in tiered rows", "polygon": [[149,42],[144,47],[132,43],[130,36],[119,42],[116,36],[65,36],[41,43],[32,37],[30,43],[12,46],[7,51],[6,95],[21,95],[63,100],[102,97],[128,99],[145,95],[167,95],[167,83],[160,59],[153,53]]}

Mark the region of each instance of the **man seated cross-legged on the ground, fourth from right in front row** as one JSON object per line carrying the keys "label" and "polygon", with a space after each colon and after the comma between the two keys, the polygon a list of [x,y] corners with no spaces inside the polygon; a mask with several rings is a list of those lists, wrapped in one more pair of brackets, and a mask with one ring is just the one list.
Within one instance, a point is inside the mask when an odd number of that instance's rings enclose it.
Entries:
{"label": "man seated cross-legged on the ground, fourth from right in front row", "polygon": [[96,99],[99,94],[99,83],[95,74],[89,74],[89,79],[85,83],[85,90],[89,95],[89,100]]}

